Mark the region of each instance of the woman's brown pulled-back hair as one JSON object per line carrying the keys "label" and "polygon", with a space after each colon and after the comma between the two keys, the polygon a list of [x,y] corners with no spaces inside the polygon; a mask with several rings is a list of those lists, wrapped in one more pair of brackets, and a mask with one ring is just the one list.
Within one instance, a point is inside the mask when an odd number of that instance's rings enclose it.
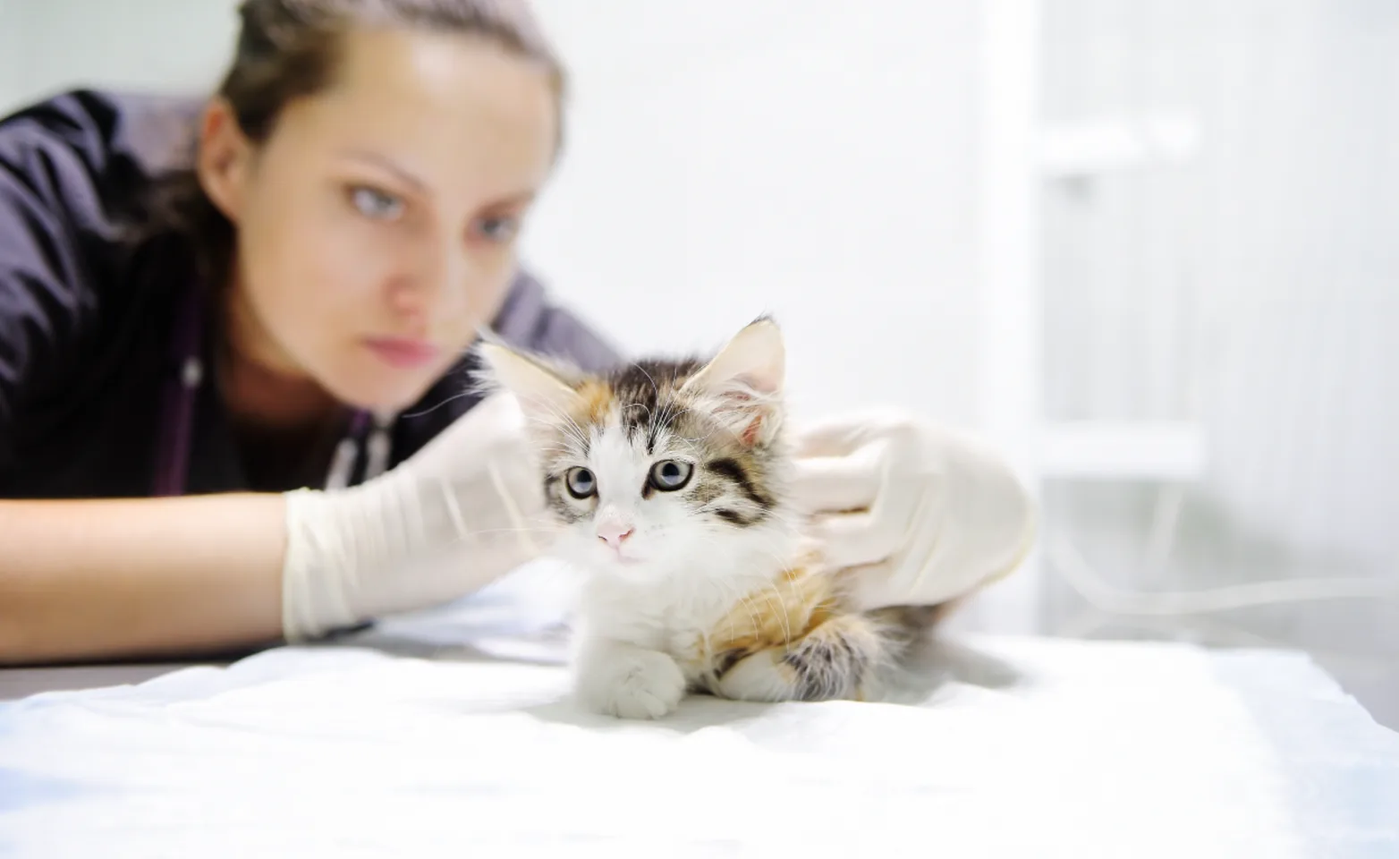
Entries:
{"label": "woman's brown pulled-back hair", "polygon": [[[288,102],[333,83],[343,36],[361,28],[429,29],[495,42],[546,69],[562,113],[564,69],[526,0],[243,0],[238,14],[236,49],[215,95],[228,102],[253,143],[271,136]],[[204,193],[193,164],[157,180],[144,221],[143,236],[179,235],[189,242],[206,281],[227,274],[234,227]]]}

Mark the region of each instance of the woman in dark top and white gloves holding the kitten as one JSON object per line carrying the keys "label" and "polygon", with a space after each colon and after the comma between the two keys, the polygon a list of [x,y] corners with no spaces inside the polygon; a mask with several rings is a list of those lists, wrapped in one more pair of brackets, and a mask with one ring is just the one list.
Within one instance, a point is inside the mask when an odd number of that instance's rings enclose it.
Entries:
{"label": "woman in dark top and white gloves holding the kitten", "polygon": [[[0,662],[297,641],[467,593],[537,551],[539,488],[460,355],[488,325],[616,360],[516,266],[562,137],[523,4],[241,13],[207,105],[71,92],[0,125]],[[802,491],[860,511],[824,529],[873,600],[1021,554],[1024,495],[967,442],[901,418],[804,439]]]}

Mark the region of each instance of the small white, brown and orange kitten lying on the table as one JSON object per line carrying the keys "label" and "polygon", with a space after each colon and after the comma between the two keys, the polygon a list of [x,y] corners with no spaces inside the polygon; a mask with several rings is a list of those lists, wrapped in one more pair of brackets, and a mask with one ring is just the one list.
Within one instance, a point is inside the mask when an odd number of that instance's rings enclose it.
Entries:
{"label": "small white, brown and orange kitten lying on the table", "polygon": [[537,441],[555,553],[588,575],[575,693],[660,718],[690,691],[860,700],[935,610],[852,610],[803,546],[786,497],[785,348],[760,319],[712,360],[590,375],[494,340],[487,389],[513,392]]}

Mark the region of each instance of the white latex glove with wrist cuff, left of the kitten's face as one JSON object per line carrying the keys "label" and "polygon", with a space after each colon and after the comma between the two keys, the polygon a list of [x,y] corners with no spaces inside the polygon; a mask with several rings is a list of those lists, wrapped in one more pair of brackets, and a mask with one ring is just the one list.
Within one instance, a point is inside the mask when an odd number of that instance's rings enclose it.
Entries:
{"label": "white latex glove with wrist cuff, left of the kitten's face", "polygon": [[288,492],[285,638],[449,602],[537,557],[553,526],[523,427],[492,396],[374,480]]}

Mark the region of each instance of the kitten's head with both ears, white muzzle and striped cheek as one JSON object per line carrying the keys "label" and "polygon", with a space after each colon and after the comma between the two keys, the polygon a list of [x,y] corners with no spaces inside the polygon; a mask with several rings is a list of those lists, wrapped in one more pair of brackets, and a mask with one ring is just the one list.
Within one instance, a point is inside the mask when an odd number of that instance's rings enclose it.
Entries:
{"label": "kitten's head with both ears, white muzzle and striped cheek", "polygon": [[[644,361],[607,376],[484,350],[540,445],[555,550],[603,575],[662,582],[781,530],[782,350],[744,329],[709,364]],[[776,548],[775,546],[772,548]],[[715,569],[723,575],[725,569]]]}

